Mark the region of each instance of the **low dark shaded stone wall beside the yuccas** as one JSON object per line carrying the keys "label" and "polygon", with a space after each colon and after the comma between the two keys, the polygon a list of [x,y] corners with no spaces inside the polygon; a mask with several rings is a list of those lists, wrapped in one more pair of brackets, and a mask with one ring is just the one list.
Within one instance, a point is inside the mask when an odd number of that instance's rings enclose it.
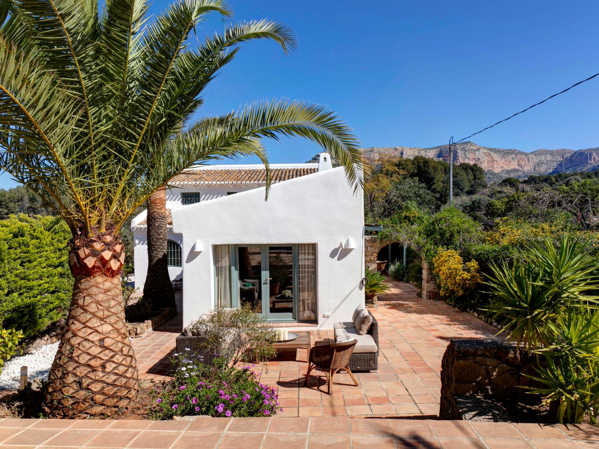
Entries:
{"label": "low dark shaded stone wall beside the yuccas", "polygon": [[[515,343],[497,340],[452,340],[441,362],[439,417],[461,420],[456,398],[479,395],[504,401],[524,398],[534,374],[534,359]],[[531,395],[528,395],[531,396]]]}

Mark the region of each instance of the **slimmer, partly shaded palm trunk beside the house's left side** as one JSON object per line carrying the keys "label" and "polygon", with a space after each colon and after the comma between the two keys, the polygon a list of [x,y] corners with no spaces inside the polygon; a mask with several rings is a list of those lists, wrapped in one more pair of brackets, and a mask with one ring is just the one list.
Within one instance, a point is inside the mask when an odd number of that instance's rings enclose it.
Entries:
{"label": "slimmer, partly shaded palm trunk beside the house's left side", "polygon": [[161,187],[152,193],[147,204],[148,271],[144,283],[144,299],[152,301],[155,309],[177,308],[175,291],[168,274],[167,190]]}

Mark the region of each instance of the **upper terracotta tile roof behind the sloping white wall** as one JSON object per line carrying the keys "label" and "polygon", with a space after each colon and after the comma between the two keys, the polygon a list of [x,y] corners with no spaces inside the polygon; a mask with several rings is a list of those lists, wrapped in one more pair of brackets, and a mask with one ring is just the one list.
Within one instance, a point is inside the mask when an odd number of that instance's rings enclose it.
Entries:
{"label": "upper terracotta tile roof behind the sloping white wall", "polygon": [[[273,183],[316,173],[316,167],[273,168]],[[169,184],[266,184],[264,168],[187,170],[169,181]]]}

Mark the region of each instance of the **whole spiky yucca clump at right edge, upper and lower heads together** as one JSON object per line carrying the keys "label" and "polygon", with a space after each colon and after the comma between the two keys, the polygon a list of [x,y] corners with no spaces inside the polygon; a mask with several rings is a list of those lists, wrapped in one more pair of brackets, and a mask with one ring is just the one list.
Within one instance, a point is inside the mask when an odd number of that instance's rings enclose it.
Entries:
{"label": "whole spiky yucca clump at right edge, upper and lower heads together", "polygon": [[532,393],[556,403],[561,423],[581,423],[599,412],[599,280],[588,242],[564,233],[555,247],[550,236],[529,247],[524,260],[512,266],[491,265],[488,309],[503,321],[507,338],[537,354],[537,375],[543,384]]}

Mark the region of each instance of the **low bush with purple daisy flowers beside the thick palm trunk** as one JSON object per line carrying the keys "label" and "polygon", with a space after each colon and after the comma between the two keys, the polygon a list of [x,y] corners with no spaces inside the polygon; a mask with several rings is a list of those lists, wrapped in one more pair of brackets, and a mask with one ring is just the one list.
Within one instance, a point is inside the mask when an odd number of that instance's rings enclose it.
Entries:
{"label": "low bush with purple daisy flowers beside the thick palm trunk", "polygon": [[150,408],[155,419],[184,415],[264,417],[283,411],[276,390],[259,383],[252,366],[227,368],[225,357],[217,357],[210,366],[197,360],[173,362],[174,381],[155,393]]}

